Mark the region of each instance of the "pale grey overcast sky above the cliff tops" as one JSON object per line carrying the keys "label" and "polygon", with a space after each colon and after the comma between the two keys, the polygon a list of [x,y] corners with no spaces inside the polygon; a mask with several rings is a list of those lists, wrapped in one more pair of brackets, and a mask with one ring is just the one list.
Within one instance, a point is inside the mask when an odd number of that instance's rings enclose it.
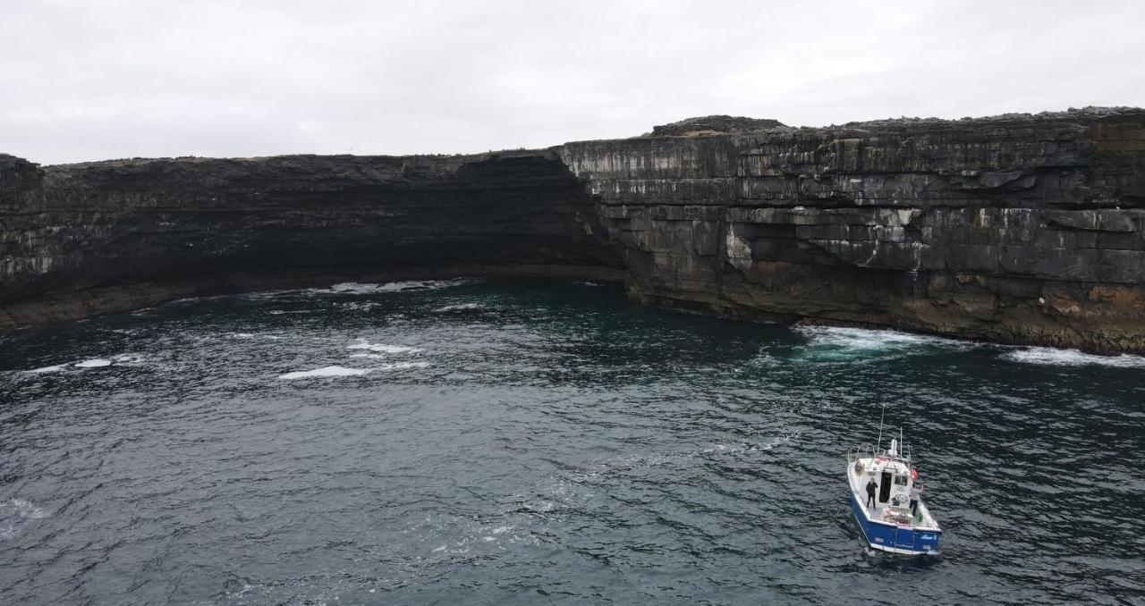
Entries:
{"label": "pale grey overcast sky above the cliff tops", "polygon": [[455,153],[1145,105],[1145,2],[0,0],[0,152]]}

